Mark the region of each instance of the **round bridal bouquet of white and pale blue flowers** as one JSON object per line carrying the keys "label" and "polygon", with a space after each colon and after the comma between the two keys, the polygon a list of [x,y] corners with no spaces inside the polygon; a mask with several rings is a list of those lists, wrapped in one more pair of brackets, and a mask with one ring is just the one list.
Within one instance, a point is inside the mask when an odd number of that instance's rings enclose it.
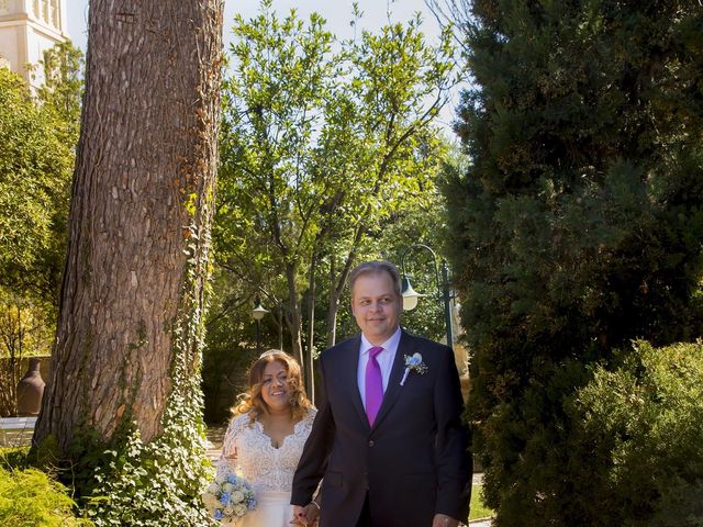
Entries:
{"label": "round bridal bouquet of white and pale blue flowers", "polygon": [[256,497],[244,478],[227,474],[208,485],[202,496],[208,513],[220,522],[235,522],[256,508]]}

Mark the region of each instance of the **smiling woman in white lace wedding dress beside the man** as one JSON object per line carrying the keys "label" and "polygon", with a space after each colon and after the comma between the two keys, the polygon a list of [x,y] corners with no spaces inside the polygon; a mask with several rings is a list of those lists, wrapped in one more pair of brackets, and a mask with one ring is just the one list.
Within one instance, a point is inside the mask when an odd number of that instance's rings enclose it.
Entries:
{"label": "smiling woman in white lace wedding dress beside the man", "polygon": [[[223,526],[289,527],[293,523],[291,484],[315,412],[301,384],[300,366],[291,356],[271,349],[252,365],[249,390],[234,408],[217,475],[234,472],[245,478],[257,505],[236,524]],[[319,509],[316,502],[308,505],[309,525]]]}

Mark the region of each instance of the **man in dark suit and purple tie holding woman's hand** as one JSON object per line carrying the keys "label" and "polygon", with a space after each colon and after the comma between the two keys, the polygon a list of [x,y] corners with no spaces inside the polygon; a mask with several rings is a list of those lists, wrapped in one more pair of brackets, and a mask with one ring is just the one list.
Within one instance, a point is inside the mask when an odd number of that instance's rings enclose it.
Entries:
{"label": "man in dark suit and purple tie holding woman's hand", "polygon": [[471,457],[454,354],[400,328],[392,264],[361,264],[349,287],[361,335],[322,354],[326,396],[293,478],[295,520],[322,480],[320,527],[455,527]]}

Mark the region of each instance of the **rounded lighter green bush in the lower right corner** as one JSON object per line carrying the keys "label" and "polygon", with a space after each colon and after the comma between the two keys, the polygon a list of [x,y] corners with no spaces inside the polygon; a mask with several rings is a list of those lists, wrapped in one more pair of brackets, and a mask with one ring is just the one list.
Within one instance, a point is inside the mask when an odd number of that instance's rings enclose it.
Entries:
{"label": "rounded lighter green bush in the lower right corner", "polygon": [[593,373],[567,408],[584,452],[587,476],[571,469],[583,484],[568,497],[582,525],[703,526],[703,343],[639,341],[621,367]]}

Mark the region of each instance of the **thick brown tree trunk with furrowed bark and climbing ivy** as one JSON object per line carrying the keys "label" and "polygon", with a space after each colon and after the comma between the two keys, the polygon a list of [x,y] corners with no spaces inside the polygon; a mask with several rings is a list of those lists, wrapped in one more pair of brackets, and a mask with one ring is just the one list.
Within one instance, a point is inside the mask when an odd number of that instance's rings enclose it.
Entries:
{"label": "thick brown tree trunk with furrowed bark and climbing ivy", "polygon": [[35,442],[161,431],[197,374],[216,172],[221,0],[92,0],[60,314]]}

